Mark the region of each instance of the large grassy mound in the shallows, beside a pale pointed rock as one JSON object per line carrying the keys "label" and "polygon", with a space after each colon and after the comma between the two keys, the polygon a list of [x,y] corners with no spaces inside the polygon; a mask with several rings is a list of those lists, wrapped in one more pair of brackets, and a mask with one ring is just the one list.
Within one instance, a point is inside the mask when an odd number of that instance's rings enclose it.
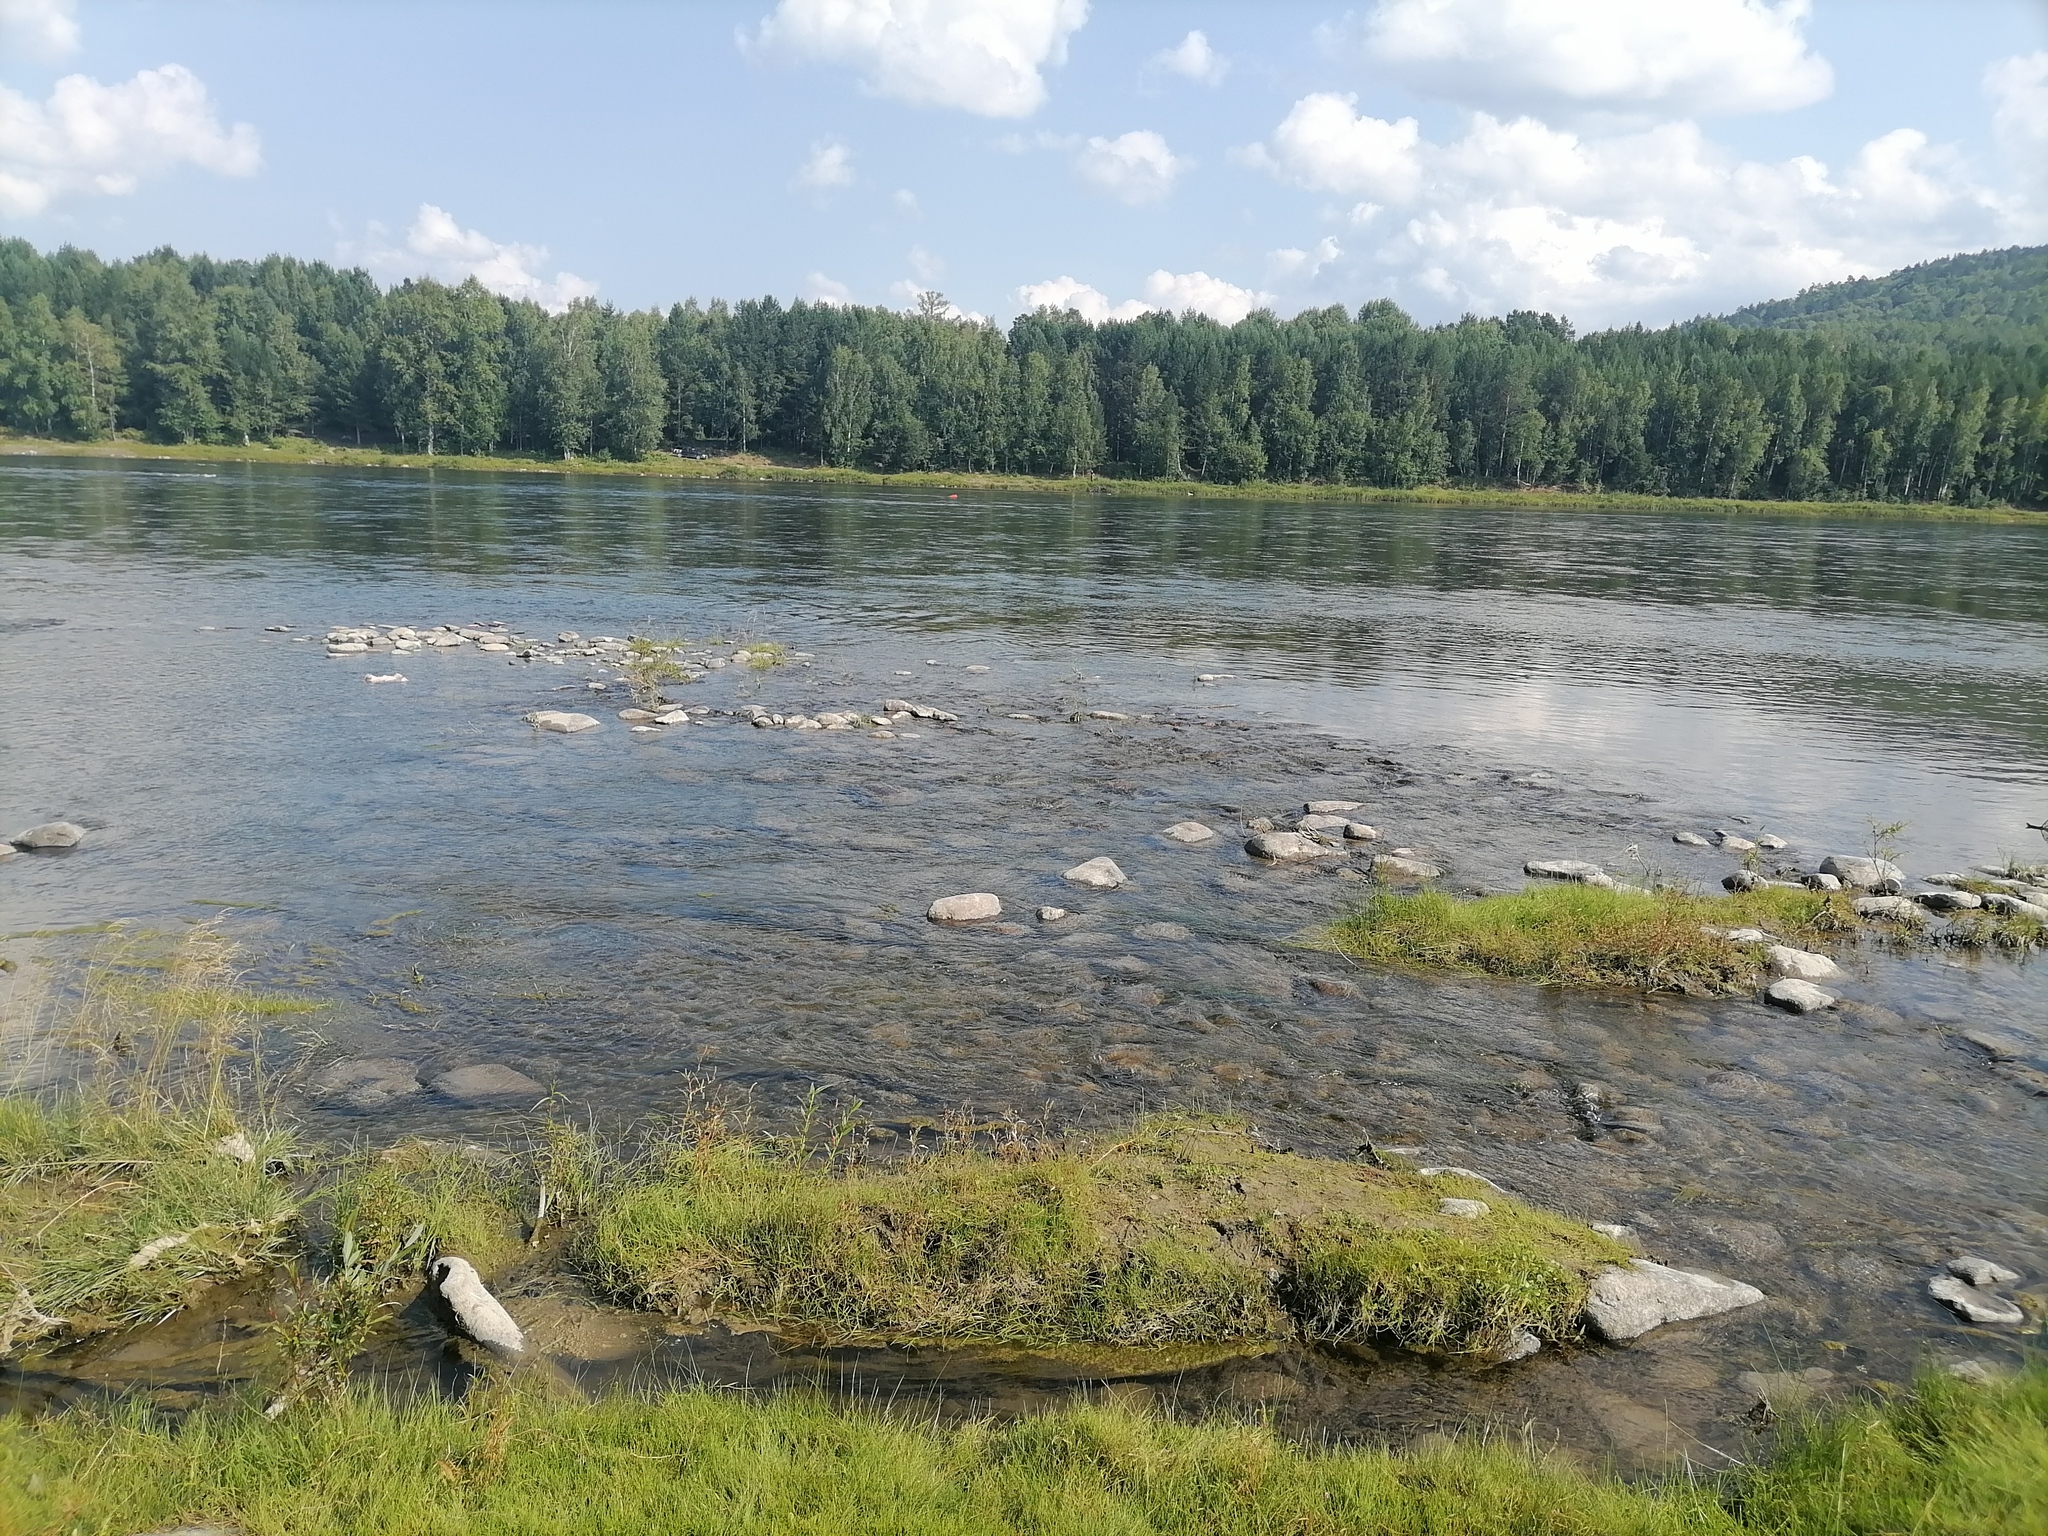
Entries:
{"label": "large grassy mound in the shallows, beside a pale pointed rock", "polygon": [[[1573,1333],[1587,1278],[1626,1257],[1493,1190],[1260,1151],[1227,1120],[1008,1153],[821,1167],[698,1126],[602,1202],[582,1251],[635,1305],[827,1339],[1462,1352]],[[1442,1217],[1446,1194],[1491,1214]]]}

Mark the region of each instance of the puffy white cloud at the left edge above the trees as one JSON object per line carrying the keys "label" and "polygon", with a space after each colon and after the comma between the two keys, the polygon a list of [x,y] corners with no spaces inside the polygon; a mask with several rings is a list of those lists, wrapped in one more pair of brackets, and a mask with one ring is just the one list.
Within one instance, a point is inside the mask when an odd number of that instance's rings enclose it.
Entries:
{"label": "puffy white cloud at the left edge above the trees", "polygon": [[254,176],[256,129],[221,127],[199,76],[182,63],[102,86],[82,74],[37,102],[0,86],[0,213],[31,217],[59,197],[127,197],[145,176],[199,166]]}

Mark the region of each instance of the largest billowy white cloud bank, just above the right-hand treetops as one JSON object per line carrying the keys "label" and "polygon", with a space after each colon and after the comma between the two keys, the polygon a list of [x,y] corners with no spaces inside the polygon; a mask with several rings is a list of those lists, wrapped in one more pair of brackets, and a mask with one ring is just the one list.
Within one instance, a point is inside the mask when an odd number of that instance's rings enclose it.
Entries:
{"label": "largest billowy white cloud bank, just above the right-hand treetops", "polygon": [[1368,266],[1438,311],[1683,317],[2021,233],[2015,199],[1915,129],[1829,168],[1741,160],[1688,121],[1581,135],[1475,113],[1438,143],[1319,94],[1239,158],[1364,197],[1352,223],[1376,231]]}

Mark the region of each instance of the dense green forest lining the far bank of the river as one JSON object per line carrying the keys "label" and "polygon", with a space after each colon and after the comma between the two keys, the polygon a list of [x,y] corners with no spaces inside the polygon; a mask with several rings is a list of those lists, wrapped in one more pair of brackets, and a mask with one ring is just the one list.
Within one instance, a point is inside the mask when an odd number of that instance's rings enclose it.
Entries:
{"label": "dense green forest lining the far bank of the river", "polygon": [[[0,424],[430,455],[2042,506],[2042,250],[1577,336],[1378,299],[1235,326],[1040,309],[1001,330],[711,301],[561,313],[475,281],[0,242]],[[1882,285],[1894,285],[1886,289]]]}

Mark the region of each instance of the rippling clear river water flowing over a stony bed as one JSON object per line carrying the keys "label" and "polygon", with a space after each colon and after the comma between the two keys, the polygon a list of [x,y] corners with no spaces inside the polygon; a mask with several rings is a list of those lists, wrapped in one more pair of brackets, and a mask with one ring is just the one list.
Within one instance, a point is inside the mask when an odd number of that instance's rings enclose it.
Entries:
{"label": "rippling clear river water flowing over a stony bed", "polygon": [[[811,659],[672,696],[905,696],[958,723],[631,733],[588,659],[317,643],[483,621],[772,639]],[[406,684],[365,682],[393,668]],[[2048,1100],[1962,1040],[1991,1028],[2048,1069],[2040,961],[1864,950],[1812,1018],[1362,971],[1300,938],[1366,887],[1255,866],[1241,823],[1360,801],[1460,889],[1513,889],[1540,856],[1712,887],[1733,858],[1671,834],[1716,825],[1774,831],[1802,868],[1864,852],[1872,821],[1907,823],[1915,874],[2040,862],[2044,676],[2048,526],[14,457],[0,821],[92,836],[0,866],[0,954],[215,920],[260,981],[330,1004],[309,1065],[504,1063],[606,1122],[713,1075],[766,1114],[819,1085],[895,1128],[1208,1106],[1303,1151],[1415,1147],[1772,1305],[1505,1370],[1282,1352],[1124,1386],[1268,1401],[1317,1434],[1485,1419],[1714,1462],[1745,1444],[1745,1370],[1841,1391],[2009,1356],[1923,1286],[1958,1251],[2048,1276]],[[535,733],[532,709],[604,729]],[[1190,817],[1225,836],[1159,836]],[[1059,879],[1100,854],[1126,889]],[[924,922],[958,891],[1016,922]],[[1661,1130],[1589,1137],[1581,1081]],[[295,1108],[336,1139],[508,1116]],[[682,1350],[776,1374],[754,1343],[686,1346],[618,1370]],[[829,1368],[991,1403],[1075,1374],[961,1360]]]}

